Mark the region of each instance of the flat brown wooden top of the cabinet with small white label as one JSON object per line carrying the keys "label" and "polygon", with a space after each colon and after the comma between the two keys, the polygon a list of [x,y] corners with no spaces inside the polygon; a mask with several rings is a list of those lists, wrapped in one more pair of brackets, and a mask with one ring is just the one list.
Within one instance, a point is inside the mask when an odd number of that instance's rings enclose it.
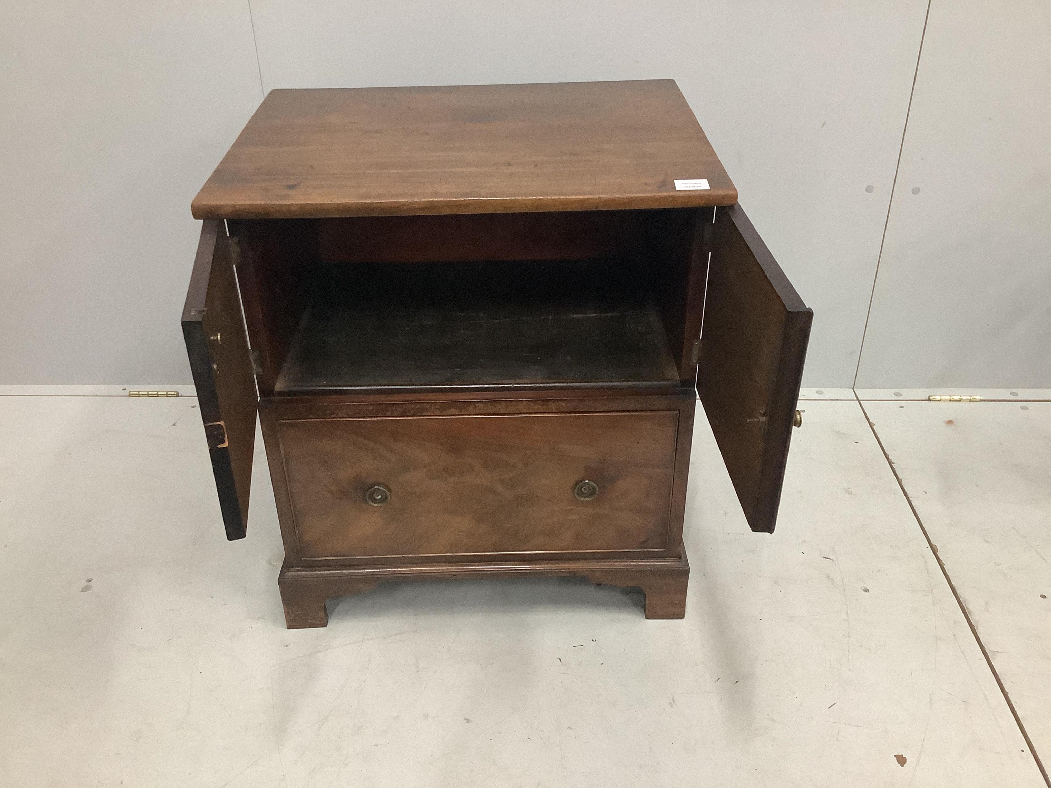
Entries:
{"label": "flat brown wooden top of the cabinet with small white label", "polygon": [[[696,188],[701,179],[707,189]],[[271,90],[192,211],[291,219],[735,203],[675,81],[639,80]]]}

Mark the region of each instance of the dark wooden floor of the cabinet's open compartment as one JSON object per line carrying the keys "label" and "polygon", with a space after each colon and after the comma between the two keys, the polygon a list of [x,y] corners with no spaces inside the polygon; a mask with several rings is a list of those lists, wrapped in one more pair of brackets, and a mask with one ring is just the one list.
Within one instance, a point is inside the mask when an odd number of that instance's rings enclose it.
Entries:
{"label": "dark wooden floor of the cabinet's open compartment", "polygon": [[616,262],[358,263],[312,277],[275,393],[624,382],[679,375]]}

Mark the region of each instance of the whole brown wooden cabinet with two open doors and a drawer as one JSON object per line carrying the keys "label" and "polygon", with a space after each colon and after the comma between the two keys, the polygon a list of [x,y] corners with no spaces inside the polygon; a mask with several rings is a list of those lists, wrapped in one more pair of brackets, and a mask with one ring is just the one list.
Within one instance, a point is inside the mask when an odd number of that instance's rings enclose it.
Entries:
{"label": "whole brown wooden cabinet with two open doors and a drawer", "polygon": [[289,627],[385,580],[521,575],[682,618],[698,394],[774,531],[811,312],[674,81],[273,90],[192,211],[226,535],[257,413]]}

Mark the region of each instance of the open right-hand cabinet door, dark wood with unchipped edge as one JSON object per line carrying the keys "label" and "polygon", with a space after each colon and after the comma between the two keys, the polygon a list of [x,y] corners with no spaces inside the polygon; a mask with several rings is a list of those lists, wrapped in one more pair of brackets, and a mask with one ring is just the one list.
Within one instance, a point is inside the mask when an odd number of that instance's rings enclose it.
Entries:
{"label": "open right-hand cabinet door, dark wood with unchipped edge", "polygon": [[739,205],[714,229],[697,390],[748,525],[772,533],[813,312]]}

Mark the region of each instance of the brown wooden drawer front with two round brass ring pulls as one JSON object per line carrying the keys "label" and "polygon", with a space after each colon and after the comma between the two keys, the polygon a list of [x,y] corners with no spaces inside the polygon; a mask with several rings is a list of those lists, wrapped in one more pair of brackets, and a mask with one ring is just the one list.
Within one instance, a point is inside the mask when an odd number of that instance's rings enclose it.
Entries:
{"label": "brown wooden drawer front with two round brass ring pulls", "polygon": [[678,419],[645,411],[275,427],[300,556],[324,559],[664,551]]}

